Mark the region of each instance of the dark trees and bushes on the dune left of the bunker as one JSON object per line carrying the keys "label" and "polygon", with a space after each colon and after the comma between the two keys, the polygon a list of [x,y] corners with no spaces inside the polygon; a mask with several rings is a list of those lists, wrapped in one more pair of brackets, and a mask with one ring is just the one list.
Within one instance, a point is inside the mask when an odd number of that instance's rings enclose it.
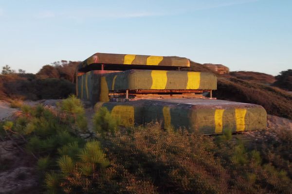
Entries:
{"label": "dark trees and bushes on the dune left of the bunker", "polygon": [[2,67],[0,75],[0,99],[59,99],[75,93],[74,72],[79,62],[55,62],[44,65],[39,72],[18,73],[9,65]]}

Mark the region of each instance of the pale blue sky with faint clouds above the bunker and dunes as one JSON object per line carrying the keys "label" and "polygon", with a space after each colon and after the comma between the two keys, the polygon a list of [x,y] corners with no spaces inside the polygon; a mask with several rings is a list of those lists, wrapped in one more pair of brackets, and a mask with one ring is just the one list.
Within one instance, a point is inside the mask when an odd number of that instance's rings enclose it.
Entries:
{"label": "pale blue sky with faint clouds above the bunker and dunes", "polygon": [[0,66],[36,73],[96,52],[277,75],[292,68],[292,0],[0,0]]}

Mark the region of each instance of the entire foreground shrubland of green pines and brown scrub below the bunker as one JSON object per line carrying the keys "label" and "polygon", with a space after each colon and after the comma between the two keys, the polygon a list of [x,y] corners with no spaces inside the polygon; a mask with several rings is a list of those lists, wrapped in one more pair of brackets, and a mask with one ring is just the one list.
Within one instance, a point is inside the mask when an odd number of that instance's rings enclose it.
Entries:
{"label": "entire foreground shrubland of green pines and brown scrub below the bunker", "polygon": [[15,121],[0,124],[0,135],[35,158],[51,194],[292,193],[291,130],[242,142],[230,131],[204,136],[159,123],[118,124],[103,108],[89,130],[71,96],[56,108],[22,106]]}

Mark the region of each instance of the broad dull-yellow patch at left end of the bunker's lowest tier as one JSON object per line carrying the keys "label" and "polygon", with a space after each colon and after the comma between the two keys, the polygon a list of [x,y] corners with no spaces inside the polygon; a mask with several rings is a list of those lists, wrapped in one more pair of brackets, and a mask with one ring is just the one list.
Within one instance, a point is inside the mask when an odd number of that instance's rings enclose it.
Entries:
{"label": "broad dull-yellow patch at left end of the bunker's lowest tier", "polygon": [[121,125],[125,127],[134,126],[134,107],[126,105],[114,106],[111,110],[111,116],[118,118],[121,121]]}

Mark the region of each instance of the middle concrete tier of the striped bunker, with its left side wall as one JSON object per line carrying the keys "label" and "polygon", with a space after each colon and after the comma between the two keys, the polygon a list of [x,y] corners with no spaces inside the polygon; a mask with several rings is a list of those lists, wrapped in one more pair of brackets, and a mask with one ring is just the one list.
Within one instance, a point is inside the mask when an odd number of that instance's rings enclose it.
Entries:
{"label": "middle concrete tier of the striped bunker, with its left side wall", "polygon": [[106,74],[89,71],[77,77],[77,96],[93,104],[97,101],[109,101],[109,91],[127,89],[216,90],[217,77],[209,72],[137,69]]}

